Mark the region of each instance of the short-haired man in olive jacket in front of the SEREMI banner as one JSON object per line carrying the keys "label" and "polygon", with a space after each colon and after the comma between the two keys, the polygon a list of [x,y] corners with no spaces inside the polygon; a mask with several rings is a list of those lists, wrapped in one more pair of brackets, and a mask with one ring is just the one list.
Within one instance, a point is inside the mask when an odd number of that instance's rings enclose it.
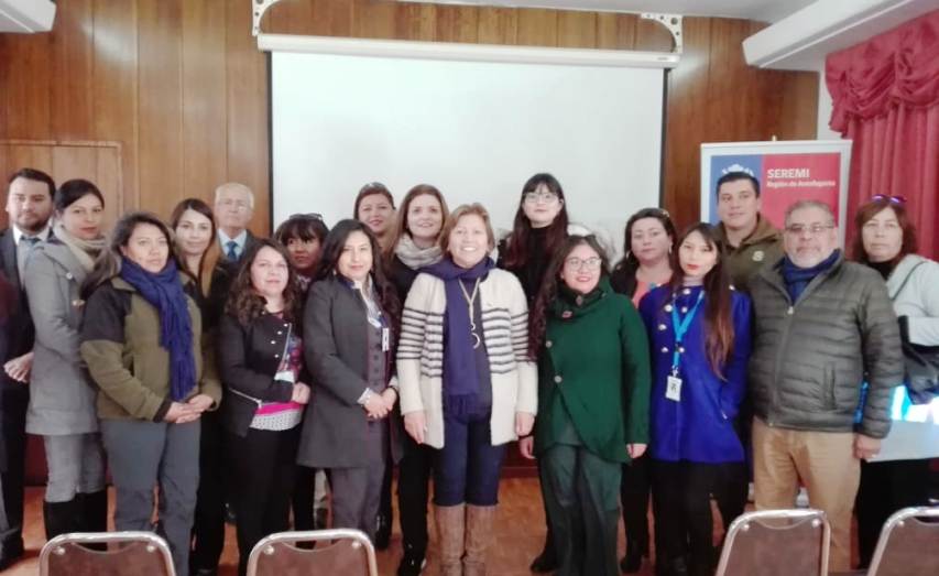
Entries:
{"label": "short-haired man in olive jacket in front of the SEREMI banner", "polygon": [[733,170],[718,181],[718,238],[731,282],[746,290],[750,279],[767,263],[783,257],[783,242],[760,213],[760,181],[750,172]]}

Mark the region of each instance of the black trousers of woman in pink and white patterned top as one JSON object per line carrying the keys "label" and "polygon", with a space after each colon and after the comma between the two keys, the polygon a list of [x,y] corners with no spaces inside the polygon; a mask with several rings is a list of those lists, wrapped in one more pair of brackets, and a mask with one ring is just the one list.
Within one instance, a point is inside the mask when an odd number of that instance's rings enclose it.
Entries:
{"label": "black trousers of woman in pink and white patterned top", "polygon": [[287,431],[249,428],[226,433],[231,503],[238,532],[238,573],[244,575],[251,550],[261,539],[290,529],[301,426]]}

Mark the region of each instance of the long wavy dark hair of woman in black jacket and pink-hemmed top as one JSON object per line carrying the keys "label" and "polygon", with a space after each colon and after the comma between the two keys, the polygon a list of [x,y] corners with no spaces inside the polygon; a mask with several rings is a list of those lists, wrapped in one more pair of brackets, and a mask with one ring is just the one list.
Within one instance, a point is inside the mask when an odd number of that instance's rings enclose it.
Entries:
{"label": "long wavy dark hair of woman in black jacket and pink-hemmed top", "polygon": [[[241,259],[238,265],[238,274],[231,283],[229,290],[228,302],[225,305],[225,312],[238,318],[242,326],[248,326],[259,316],[264,314],[264,305],[266,301],[264,296],[258,294],[254,285],[251,283],[251,265],[258,258],[258,252],[263,248],[270,248],[281,254],[284,262],[287,264],[287,285],[284,287],[284,319],[298,325],[301,320],[302,293],[299,283],[296,279],[296,271],[291,265],[291,254],[286,248],[276,240],[270,238],[259,238],[256,242],[248,249],[248,252]],[[298,329],[298,328],[297,328]],[[302,334],[302,333],[301,333]]]}

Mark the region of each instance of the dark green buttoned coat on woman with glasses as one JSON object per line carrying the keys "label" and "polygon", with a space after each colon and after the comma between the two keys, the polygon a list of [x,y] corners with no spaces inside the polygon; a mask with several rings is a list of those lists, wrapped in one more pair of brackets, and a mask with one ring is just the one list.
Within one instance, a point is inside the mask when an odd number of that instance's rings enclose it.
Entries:
{"label": "dark green buttoned coat on woman with glasses", "polygon": [[548,306],[538,363],[535,454],[569,436],[611,461],[648,444],[648,341],[630,298],[607,279],[586,296],[561,287]]}

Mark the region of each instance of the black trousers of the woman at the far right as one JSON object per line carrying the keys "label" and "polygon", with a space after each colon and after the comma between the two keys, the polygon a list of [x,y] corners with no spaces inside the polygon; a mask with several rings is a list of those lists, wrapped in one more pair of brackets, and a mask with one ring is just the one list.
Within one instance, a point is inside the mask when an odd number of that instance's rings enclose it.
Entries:
{"label": "black trousers of the woman at the far right", "polygon": [[861,564],[871,564],[884,522],[903,508],[928,506],[929,459],[869,463],[861,460],[861,486],[854,501]]}

